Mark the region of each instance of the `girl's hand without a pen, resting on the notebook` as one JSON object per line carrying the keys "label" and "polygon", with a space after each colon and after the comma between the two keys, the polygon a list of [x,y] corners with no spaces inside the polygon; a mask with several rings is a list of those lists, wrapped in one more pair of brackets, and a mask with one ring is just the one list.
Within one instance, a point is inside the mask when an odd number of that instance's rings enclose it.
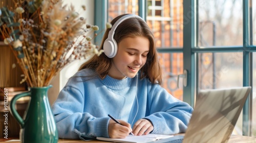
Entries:
{"label": "girl's hand without a pen, resting on the notebook", "polygon": [[133,126],[134,135],[148,134],[153,131],[154,126],[152,123],[144,118],[138,120]]}

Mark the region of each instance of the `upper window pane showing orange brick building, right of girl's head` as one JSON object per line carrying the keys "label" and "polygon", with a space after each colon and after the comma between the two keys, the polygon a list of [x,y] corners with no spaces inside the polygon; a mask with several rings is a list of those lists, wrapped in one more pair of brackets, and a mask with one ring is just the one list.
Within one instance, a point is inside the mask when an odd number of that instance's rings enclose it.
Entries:
{"label": "upper window pane showing orange brick building, right of girl's head", "polygon": [[147,1],[147,24],[157,47],[183,46],[183,1]]}

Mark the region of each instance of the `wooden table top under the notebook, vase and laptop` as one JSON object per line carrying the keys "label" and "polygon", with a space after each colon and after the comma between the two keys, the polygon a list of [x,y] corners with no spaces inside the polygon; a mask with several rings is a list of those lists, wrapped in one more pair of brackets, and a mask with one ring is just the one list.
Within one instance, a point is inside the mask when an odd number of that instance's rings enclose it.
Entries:
{"label": "wooden table top under the notebook, vase and laptop", "polygon": [[[1,141],[2,142],[2,141]],[[5,141],[4,141],[5,142]],[[10,141],[11,143],[19,143],[20,141]],[[77,142],[85,142],[79,139],[61,139],[59,138],[59,143],[77,143]],[[107,141],[100,141],[100,140],[92,140],[86,141],[87,143],[106,143]],[[242,136],[242,135],[231,135],[228,143],[255,143],[256,138],[251,136]]]}

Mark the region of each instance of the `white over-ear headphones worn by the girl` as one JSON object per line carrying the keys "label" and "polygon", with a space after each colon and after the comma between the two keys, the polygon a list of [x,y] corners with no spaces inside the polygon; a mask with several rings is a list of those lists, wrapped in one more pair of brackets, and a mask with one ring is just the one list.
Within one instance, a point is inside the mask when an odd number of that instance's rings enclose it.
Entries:
{"label": "white over-ear headphones worn by the girl", "polygon": [[[104,41],[104,44],[103,44],[103,50],[104,50],[104,53],[106,56],[108,56],[109,58],[113,58],[116,56],[116,53],[117,53],[117,43],[114,39],[114,34],[115,34],[115,30],[116,28],[120,25],[120,23],[126,19],[129,19],[129,18],[140,18],[142,19],[140,16],[138,15],[135,15],[135,14],[127,14],[127,15],[124,15],[122,16],[121,18],[119,18],[114,26],[112,26],[110,32],[109,32],[109,36],[108,38],[106,38],[106,40]],[[142,19],[144,21],[144,19]]]}

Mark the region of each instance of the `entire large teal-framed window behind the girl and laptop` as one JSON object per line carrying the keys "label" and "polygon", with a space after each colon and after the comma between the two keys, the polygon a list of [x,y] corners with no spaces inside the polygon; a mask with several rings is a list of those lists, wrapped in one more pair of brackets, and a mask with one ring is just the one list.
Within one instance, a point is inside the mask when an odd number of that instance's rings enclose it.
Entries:
{"label": "entire large teal-framed window behind the girl and laptop", "polygon": [[[146,19],[163,65],[163,86],[191,106],[200,89],[252,86],[234,133],[256,136],[255,3],[109,0],[110,9],[103,10],[108,21],[123,13]],[[183,69],[189,73],[187,86],[182,86],[182,80],[177,83]]]}

